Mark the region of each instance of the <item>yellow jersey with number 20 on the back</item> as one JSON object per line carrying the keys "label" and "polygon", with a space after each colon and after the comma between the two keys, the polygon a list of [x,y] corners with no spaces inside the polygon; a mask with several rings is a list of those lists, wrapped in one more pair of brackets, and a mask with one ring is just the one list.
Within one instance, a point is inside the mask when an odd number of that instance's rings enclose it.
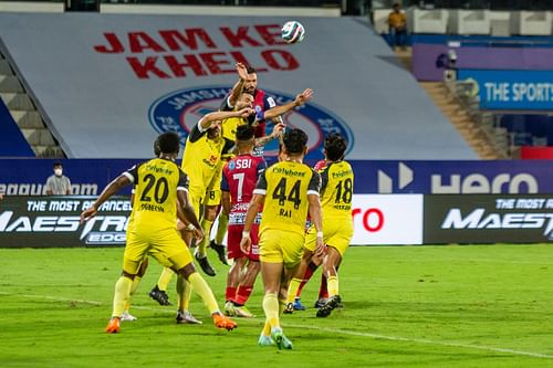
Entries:
{"label": "yellow jersey with number 20 on the back", "polygon": [[124,175],[135,185],[133,227],[176,228],[177,190],[188,190],[188,178],[177,164],[154,158]]}

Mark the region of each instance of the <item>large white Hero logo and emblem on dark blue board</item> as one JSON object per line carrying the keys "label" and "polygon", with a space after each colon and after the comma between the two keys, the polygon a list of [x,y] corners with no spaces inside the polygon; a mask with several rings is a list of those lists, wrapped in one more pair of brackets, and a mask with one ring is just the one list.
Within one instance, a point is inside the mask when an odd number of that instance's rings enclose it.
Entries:
{"label": "large white Hero logo and emblem on dark blue board", "polygon": [[[413,192],[408,186],[414,181],[415,174],[404,162],[398,162],[397,190],[394,190],[394,179],[384,170],[378,170],[378,193],[397,193],[406,189]],[[419,186],[420,187],[420,186]],[[524,190],[525,189],[525,190]],[[417,188],[418,191],[427,189]],[[472,172],[466,176],[452,174],[446,176],[434,174],[430,176],[430,193],[432,194],[484,194],[484,193],[538,193],[540,186],[531,174],[499,174],[490,177],[483,174]]]}

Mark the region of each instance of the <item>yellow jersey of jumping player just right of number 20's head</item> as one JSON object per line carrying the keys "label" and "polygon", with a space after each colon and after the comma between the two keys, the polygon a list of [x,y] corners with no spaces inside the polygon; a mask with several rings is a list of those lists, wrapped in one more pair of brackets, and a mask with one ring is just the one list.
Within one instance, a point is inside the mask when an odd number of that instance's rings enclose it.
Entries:
{"label": "yellow jersey of jumping player just right of number 20's head", "polygon": [[201,130],[199,123],[190,132],[182,155],[182,171],[195,187],[206,187],[211,182],[221,160],[225,140],[208,138],[208,130]]}

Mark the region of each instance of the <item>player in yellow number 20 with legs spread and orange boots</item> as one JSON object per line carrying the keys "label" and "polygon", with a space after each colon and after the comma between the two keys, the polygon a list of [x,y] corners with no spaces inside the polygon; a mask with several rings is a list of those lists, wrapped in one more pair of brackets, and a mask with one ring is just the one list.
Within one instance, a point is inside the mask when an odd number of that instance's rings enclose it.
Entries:
{"label": "player in yellow number 20 with legs spread and orange boots", "polygon": [[194,291],[208,306],[218,328],[231,330],[236,323],[221,314],[211,288],[196,272],[190,251],[177,232],[177,203],[181,207],[184,221],[196,228],[196,235],[202,236],[199,222],[188,202],[188,178],[175,159],[179,151],[179,136],[164,133],[159,136],[159,158],[145,161],[123,172],[109,182],[91,208],[81,213],[81,221],[96,215],[97,209],[121,188],[135,183],[133,203],[133,229],[128,233],[123,256],[123,272],[115,284],[113,314],[106,332],[118,333],[125,302],[129,297],[133,280],[148,254],[160,262],[169,262],[173,270],[187,280]]}

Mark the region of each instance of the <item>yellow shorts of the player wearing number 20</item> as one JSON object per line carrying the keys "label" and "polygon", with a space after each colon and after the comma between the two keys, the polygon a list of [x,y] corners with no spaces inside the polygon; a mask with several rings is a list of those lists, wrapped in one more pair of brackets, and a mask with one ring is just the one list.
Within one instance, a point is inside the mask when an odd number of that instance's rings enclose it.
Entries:
{"label": "yellow shorts of the player wearing number 20", "polygon": [[147,229],[139,227],[127,232],[127,245],[123,255],[123,270],[135,275],[140,263],[152,255],[164,266],[180,270],[192,262],[192,256],[176,229]]}

